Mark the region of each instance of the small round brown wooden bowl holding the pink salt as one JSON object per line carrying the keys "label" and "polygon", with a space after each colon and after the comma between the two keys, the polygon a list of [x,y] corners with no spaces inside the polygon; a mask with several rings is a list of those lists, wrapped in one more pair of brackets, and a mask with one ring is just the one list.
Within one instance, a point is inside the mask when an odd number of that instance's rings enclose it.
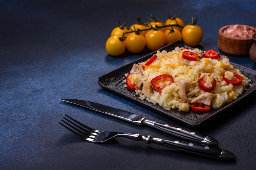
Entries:
{"label": "small round brown wooden bowl holding the pink salt", "polygon": [[[248,56],[250,48],[253,44],[252,37],[247,39],[239,39],[239,38],[232,38],[228,37],[223,33],[223,30],[229,26],[234,25],[227,25],[223,26],[219,30],[219,37],[218,37],[218,47],[222,52],[225,52],[229,55],[235,55],[235,56]],[[256,31],[256,28],[249,26]]]}

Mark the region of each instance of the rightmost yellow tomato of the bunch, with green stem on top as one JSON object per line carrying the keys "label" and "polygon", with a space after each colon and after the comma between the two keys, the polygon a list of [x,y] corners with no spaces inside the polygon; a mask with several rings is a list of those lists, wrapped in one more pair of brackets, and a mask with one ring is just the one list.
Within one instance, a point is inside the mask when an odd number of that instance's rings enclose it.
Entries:
{"label": "rightmost yellow tomato of the bunch, with green stem on top", "polygon": [[188,46],[194,47],[197,46],[203,38],[203,31],[202,28],[198,25],[195,25],[196,21],[199,17],[197,17],[195,20],[192,20],[189,23],[189,25],[184,26],[182,30],[182,40],[184,43]]}

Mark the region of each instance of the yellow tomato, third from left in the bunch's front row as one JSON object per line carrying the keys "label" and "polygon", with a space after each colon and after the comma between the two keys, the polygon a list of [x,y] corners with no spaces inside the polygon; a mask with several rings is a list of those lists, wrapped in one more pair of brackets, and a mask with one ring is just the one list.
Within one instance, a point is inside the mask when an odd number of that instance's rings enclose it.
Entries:
{"label": "yellow tomato, third from left in the bunch's front row", "polygon": [[150,30],[145,35],[146,46],[149,50],[158,50],[165,44],[164,32],[160,30]]}

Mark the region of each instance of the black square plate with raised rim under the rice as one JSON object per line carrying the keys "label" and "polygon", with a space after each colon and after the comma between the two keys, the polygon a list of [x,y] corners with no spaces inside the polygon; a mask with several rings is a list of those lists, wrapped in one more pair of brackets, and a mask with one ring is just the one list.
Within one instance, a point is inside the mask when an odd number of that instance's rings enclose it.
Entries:
{"label": "black square plate with raised rim under the rice", "polygon": [[[181,41],[175,41],[172,44],[169,44],[167,46],[164,46],[163,48],[159,49],[160,51],[166,50],[171,51],[175,47],[186,47],[186,45]],[[139,105],[142,105],[148,109],[151,109],[157,113],[163,114],[165,116],[168,116],[174,120],[177,120],[183,124],[189,125],[189,126],[198,126],[202,122],[209,120],[213,116],[216,116],[217,114],[221,113],[225,109],[235,105],[240,100],[243,100],[245,97],[249,96],[250,94],[254,93],[256,90],[256,71],[243,67],[241,65],[238,65],[236,63],[231,63],[234,65],[234,68],[237,68],[240,70],[241,73],[243,73],[245,76],[247,76],[249,79],[251,79],[250,84],[253,85],[247,86],[247,90],[238,97],[237,100],[233,100],[230,103],[226,103],[219,109],[211,109],[211,111],[206,113],[196,113],[194,111],[185,112],[185,111],[179,111],[178,109],[171,109],[171,111],[165,110],[164,108],[160,107],[159,105],[153,105],[151,102],[148,102],[146,100],[140,100],[138,95],[135,94],[134,91],[130,91],[127,88],[124,87],[124,80],[125,80],[125,73],[130,72],[132,65],[134,63],[139,63],[146,61],[147,59],[151,58],[155,52],[152,52],[150,54],[147,54],[146,56],[137,59],[136,61],[133,61],[132,63],[129,63],[127,65],[124,65],[116,70],[113,70],[112,72],[109,72],[107,74],[104,74],[99,77],[98,83],[103,88],[106,89],[114,94],[117,94],[121,97],[124,97],[128,100],[131,100]]]}

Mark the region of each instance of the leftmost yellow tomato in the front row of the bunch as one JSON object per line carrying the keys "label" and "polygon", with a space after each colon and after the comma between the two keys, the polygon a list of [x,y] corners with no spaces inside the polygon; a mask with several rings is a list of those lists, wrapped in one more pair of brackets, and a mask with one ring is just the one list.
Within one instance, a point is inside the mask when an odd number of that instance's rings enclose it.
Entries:
{"label": "leftmost yellow tomato in the front row of the bunch", "polygon": [[112,56],[119,56],[125,52],[126,44],[118,35],[111,36],[106,41],[106,51]]}

